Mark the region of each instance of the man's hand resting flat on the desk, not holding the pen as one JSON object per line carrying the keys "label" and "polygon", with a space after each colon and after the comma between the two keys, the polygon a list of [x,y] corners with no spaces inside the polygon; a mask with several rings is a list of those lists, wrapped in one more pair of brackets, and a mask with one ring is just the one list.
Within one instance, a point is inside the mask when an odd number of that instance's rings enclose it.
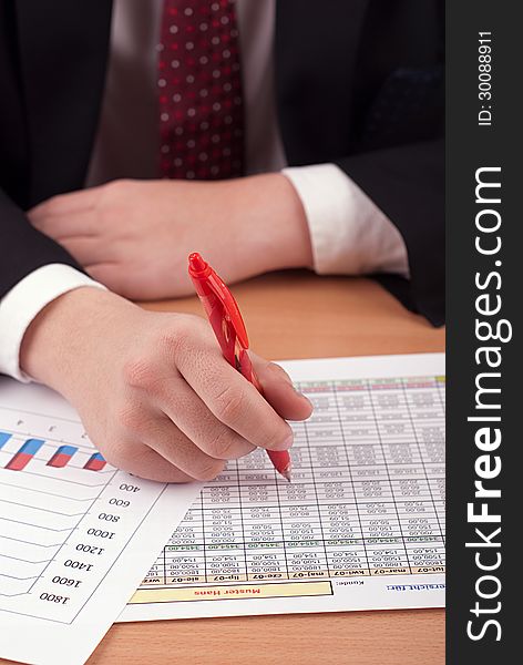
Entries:
{"label": "man's hand resting flat on the desk, not holding the pen", "polygon": [[312,263],[301,202],[281,174],[212,183],[115,181],[55,196],[29,218],[94,279],[132,299],[193,293],[191,252],[229,283]]}

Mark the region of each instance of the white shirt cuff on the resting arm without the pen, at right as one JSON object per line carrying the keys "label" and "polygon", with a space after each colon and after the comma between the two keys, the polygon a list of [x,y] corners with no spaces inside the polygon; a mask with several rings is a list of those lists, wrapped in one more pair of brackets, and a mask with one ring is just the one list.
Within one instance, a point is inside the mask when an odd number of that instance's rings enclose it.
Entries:
{"label": "white shirt cuff on the resting arm without the pen, at right", "polygon": [[307,215],[319,275],[393,273],[409,276],[401,234],[336,164],[284,168]]}

